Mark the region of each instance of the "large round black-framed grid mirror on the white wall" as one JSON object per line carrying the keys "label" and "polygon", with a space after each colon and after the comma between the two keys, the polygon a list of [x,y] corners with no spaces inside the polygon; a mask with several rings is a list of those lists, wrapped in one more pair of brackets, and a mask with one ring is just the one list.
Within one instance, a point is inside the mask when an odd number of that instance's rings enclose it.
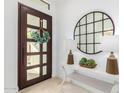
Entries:
{"label": "large round black-framed grid mirror on the white wall", "polygon": [[111,17],[100,11],[84,15],[74,29],[74,40],[77,48],[86,54],[97,54],[102,36],[114,35],[115,27]]}

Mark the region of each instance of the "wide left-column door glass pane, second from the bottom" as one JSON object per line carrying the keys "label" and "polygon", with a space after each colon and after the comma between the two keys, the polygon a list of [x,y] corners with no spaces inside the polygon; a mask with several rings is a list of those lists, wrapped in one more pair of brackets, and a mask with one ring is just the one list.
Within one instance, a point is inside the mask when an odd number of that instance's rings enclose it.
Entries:
{"label": "wide left-column door glass pane, second from the bottom", "polygon": [[27,56],[27,66],[40,64],[40,55]]}

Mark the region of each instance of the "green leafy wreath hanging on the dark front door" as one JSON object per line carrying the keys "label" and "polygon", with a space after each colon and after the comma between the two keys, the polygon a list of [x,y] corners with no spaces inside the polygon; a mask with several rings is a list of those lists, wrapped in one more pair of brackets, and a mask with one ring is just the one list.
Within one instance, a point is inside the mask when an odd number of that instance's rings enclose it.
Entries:
{"label": "green leafy wreath hanging on the dark front door", "polygon": [[30,32],[31,37],[37,42],[37,43],[47,43],[50,39],[50,35],[47,31],[43,31],[43,36],[40,36],[40,33],[37,31]]}

